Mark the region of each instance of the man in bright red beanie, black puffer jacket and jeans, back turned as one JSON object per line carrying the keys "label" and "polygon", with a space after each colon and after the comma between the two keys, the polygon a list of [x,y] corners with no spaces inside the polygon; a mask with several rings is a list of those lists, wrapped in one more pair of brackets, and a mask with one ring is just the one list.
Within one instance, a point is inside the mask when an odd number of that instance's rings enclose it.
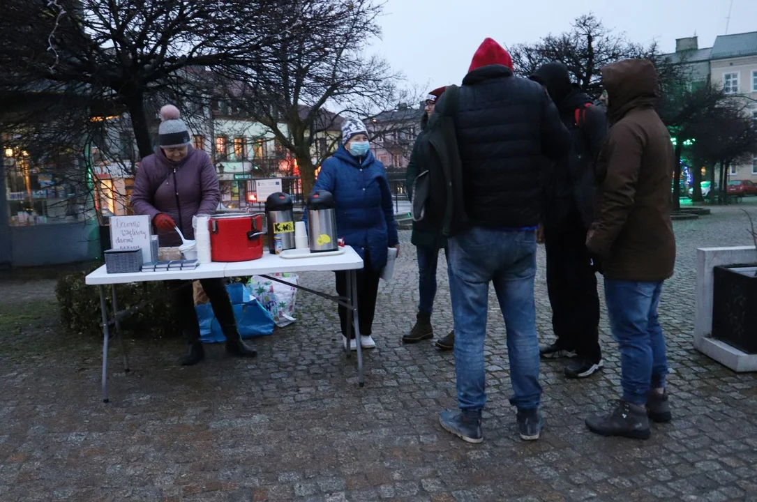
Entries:
{"label": "man in bright red beanie, black puffer jacket and jeans, back turned", "polygon": [[[439,113],[455,110],[445,93]],[[571,137],[547,91],[512,74],[512,57],[493,39],[473,56],[453,113],[469,225],[450,237],[459,411],[441,426],[467,442],[483,441],[484,339],[489,284],[507,329],[510,380],[522,439],[539,438],[539,344],[534,305],[541,172],[568,153]]]}

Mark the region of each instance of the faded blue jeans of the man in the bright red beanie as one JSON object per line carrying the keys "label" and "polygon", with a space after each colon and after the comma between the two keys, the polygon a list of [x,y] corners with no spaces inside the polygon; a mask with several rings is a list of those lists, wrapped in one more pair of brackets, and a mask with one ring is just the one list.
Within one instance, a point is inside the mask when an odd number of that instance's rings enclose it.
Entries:
{"label": "faded blue jeans of the man in the bright red beanie", "polygon": [[494,283],[507,330],[514,391],[510,404],[523,410],[538,407],[541,386],[534,305],[535,232],[472,228],[450,239],[450,261],[459,407],[480,410],[486,403],[484,339],[490,282]]}

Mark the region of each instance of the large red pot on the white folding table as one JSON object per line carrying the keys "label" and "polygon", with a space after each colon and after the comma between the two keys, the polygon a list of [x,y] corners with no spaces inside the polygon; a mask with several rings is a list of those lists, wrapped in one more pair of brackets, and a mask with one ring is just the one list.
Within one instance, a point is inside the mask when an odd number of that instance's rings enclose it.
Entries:
{"label": "large red pot on the white folding table", "polygon": [[263,257],[262,212],[210,217],[210,253],[213,262],[247,262]]}

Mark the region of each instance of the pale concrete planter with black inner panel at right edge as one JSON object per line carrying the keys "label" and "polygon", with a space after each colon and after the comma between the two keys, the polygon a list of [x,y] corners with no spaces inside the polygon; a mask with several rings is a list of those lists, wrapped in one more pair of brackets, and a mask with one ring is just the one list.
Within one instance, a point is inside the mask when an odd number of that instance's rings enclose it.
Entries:
{"label": "pale concrete planter with black inner panel at right edge", "polygon": [[[720,293],[719,296],[722,299],[718,299],[719,306],[715,305],[715,268],[728,268],[729,265],[733,268],[734,265],[754,263],[755,259],[757,259],[757,250],[754,246],[697,249],[694,347],[699,352],[737,372],[757,371],[757,355],[749,354],[742,349],[729,345],[724,342],[724,336],[718,335],[718,333],[715,334],[721,339],[715,339],[712,336],[715,308],[718,308],[718,317],[720,317],[723,311],[722,302],[733,301],[733,298],[727,297],[729,293]],[[721,275],[721,273],[718,273],[718,275]],[[750,278],[746,277],[747,280]],[[752,284],[754,283],[752,282]],[[749,311],[750,308],[754,309],[754,305],[753,302],[745,305],[746,311]],[[752,325],[752,330],[754,329],[755,327]]]}

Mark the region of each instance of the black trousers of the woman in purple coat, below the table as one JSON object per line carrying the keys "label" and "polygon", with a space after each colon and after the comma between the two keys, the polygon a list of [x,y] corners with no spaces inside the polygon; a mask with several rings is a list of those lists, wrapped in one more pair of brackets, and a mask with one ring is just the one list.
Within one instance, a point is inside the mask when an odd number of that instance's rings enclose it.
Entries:
{"label": "black trousers of the woman in purple coat, below the table", "polygon": [[[202,284],[202,289],[207,298],[210,299],[213,314],[220,324],[223,336],[226,336],[227,340],[239,339],[234,308],[231,299],[229,299],[229,293],[226,291],[225,281],[221,278],[201,279],[200,284]],[[166,285],[171,290],[171,303],[173,304],[173,311],[176,312],[176,322],[179,323],[187,343],[198,342],[200,340],[200,321],[198,321],[197,311],[195,311],[195,294],[192,290],[192,282],[188,280],[167,280]]]}

